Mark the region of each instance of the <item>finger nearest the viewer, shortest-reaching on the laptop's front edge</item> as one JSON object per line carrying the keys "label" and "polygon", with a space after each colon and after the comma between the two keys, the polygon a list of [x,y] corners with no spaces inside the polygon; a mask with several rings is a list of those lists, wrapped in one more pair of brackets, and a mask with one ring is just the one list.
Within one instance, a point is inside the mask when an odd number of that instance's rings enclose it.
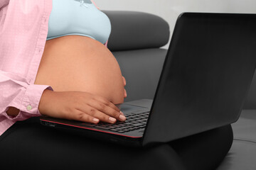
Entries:
{"label": "finger nearest the viewer, shortest-reaching on the laptop's front edge", "polygon": [[74,112],[68,113],[68,118],[69,120],[78,120],[82,122],[87,122],[87,123],[99,123],[100,119],[93,117],[92,115],[87,115],[86,113],[75,110]]}

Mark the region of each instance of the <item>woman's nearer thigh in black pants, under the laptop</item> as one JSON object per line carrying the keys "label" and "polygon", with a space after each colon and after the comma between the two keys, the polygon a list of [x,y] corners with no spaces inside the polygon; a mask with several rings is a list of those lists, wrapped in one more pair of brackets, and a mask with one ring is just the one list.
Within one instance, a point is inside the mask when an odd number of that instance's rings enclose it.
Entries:
{"label": "woman's nearer thigh in black pants, under the laptop", "polygon": [[8,169],[184,169],[168,144],[123,147],[44,127],[38,118],[7,130],[0,137],[0,152],[0,166]]}

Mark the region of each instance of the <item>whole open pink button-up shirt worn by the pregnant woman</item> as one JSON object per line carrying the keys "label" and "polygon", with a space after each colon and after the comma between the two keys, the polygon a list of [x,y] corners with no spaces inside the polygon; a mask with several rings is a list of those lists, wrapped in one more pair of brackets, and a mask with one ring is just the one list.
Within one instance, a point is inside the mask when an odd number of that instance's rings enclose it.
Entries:
{"label": "whole open pink button-up shirt worn by the pregnant woman", "polygon": [[[0,135],[16,121],[41,115],[43,91],[53,91],[34,84],[51,10],[52,0],[0,0]],[[6,114],[10,106],[20,110],[15,118]]]}

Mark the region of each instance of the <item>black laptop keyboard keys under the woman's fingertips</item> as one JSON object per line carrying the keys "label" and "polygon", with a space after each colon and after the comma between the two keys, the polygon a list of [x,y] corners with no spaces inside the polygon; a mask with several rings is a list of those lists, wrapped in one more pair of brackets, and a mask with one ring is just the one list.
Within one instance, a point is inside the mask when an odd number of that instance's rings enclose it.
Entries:
{"label": "black laptop keyboard keys under the woman's fingertips", "polygon": [[98,128],[102,130],[110,130],[112,132],[129,132],[132,130],[144,129],[146,127],[146,120],[149,117],[149,112],[131,113],[126,116],[125,122],[118,121],[111,123],[81,123],[82,125],[90,126],[91,128]]}

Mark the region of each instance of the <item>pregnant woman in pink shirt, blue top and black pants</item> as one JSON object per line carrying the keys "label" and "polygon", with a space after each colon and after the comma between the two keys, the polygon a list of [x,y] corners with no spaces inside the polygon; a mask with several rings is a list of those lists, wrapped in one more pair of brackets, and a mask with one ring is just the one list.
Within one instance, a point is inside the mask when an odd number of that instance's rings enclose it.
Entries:
{"label": "pregnant woman in pink shirt, blue top and black pants", "polygon": [[230,126],[143,149],[40,125],[40,115],[90,123],[126,120],[117,107],[127,96],[126,82],[107,49],[110,32],[110,19],[90,0],[0,1],[1,169],[220,164],[232,144]]}

